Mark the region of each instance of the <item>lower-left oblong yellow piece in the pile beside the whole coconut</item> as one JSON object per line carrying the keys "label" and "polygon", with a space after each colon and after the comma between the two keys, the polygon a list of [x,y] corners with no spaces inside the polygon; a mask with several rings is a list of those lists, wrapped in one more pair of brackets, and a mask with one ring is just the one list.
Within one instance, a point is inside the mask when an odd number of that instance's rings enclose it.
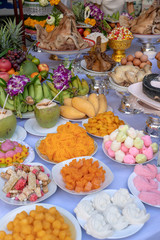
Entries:
{"label": "lower-left oblong yellow piece in the pile beside the whole coconut", "polygon": [[84,113],[71,106],[60,106],[60,114],[68,119],[80,119],[85,117]]}

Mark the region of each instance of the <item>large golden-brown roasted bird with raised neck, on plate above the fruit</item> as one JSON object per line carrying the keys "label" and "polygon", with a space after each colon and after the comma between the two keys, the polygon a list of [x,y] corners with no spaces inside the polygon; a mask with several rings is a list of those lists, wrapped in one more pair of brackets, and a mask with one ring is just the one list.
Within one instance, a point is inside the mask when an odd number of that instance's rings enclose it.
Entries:
{"label": "large golden-brown roasted bird with raised neck, on plate above the fruit", "polygon": [[77,31],[74,13],[62,2],[57,8],[63,12],[64,17],[53,31],[48,33],[39,24],[35,25],[39,47],[53,51],[80,50],[88,47],[88,43]]}

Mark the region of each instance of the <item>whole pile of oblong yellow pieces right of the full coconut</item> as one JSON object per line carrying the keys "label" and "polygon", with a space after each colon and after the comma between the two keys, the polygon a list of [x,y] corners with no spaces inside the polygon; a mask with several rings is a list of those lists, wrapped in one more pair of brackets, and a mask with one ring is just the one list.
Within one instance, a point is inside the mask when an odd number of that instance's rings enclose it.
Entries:
{"label": "whole pile of oblong yellow pieces right of the full coconut", "polygon": [[107,99],[104,94],[90,94],[88,97],[74,97],[65,99],[64,106],[60,106],[60,114],[66,119],[84,119],[95,117],[107,111]]}

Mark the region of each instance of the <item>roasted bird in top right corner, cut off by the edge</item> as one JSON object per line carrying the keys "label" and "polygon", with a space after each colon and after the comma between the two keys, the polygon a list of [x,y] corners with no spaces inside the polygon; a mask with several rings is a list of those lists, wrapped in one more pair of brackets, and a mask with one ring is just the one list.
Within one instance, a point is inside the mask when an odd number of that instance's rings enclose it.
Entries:
{"label": "roasted bird in top right corner, cut off by the edge", "polygon": [[160,6],[151,5],[133,20],[120,16],[119,22],[135,34],[160,34]]}

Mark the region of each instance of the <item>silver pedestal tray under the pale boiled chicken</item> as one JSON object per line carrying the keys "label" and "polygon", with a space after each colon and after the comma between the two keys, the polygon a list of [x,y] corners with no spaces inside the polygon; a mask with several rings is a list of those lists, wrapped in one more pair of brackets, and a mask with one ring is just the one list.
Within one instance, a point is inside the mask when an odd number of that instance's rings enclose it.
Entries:
{"label": "silver pedestal tray under the pale boiled chicken", "polygon": [[141,112],[140,110],[132,107],[131,103],[129,102],[130,93],[128,92],[128,87],[119,86],[112,80],[111,77],[109,77],[109,83],[110,87],[122,97],[121,104],[118,108],[120,112],[125,114],[137,114]]}

